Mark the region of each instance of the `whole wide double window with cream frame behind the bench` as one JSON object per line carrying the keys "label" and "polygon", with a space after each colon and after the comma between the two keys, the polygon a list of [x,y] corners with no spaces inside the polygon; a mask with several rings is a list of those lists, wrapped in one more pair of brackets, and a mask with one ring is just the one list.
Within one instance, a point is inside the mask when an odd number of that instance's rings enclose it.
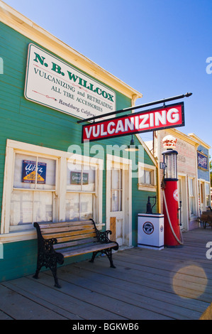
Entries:
{"label": "whole wide double window with cream frame behind the bench", "polygon": [[[102,216],[103,161],[8,140],[4,170],[1,240],[32,239],[33,222]],[[76,158],[77,157],[77,158]]]}

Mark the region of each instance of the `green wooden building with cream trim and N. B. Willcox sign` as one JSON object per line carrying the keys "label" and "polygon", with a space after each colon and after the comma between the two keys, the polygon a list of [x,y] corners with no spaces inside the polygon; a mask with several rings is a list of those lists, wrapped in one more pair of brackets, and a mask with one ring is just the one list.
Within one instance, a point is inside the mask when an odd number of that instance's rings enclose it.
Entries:
{"label": "green wooden building with cream trim and N. B. Willcox sign", "polygon": [[0,281],[34,273],[35,221],[93,217],[120,247],[137,246],[157,162],[139,135],[133,153],[131,136],[82,143],[77,120],[142,95],[2,1],[0,17]]}

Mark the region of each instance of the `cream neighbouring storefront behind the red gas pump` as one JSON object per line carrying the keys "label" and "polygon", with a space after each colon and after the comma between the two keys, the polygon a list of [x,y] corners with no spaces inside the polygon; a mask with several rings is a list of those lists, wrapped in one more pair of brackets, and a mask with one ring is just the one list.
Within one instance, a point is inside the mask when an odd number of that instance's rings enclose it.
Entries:
{"label": "cream neighbouring storefront behind the red gas pump", "polygon": [[[147,142],[147,146],[158,162],[159,184],[163,178],[163,170],[160,170],[162,151],[164,151],[162,139],[171,135],[177,139],[177,175],[178,175],[178,200],[181,202],[181,228],[192,230],[199,227],[197,218],[200,210],[206,210],[210,204],[210,172],[208,168],[208,149],[210,146],[204,143],[195,134],[183,134],[177,129],[155,131],[153,141]],[[162,190],[160,192],[160,210],[162,212]]]}

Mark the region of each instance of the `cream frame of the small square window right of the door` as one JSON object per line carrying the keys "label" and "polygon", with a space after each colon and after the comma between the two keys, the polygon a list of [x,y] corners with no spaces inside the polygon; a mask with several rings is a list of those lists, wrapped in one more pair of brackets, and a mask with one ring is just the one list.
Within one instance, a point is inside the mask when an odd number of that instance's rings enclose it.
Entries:
{"label": "cream frame of the small square window right of the door", "polygon": [[[140,183],[140,178],[143,171],[150,171],[151,173],[151,184]],[[148,165],[147,163],[138,162],[138,190],[145,191],[157,191],[157,178],[156,178],[156,166]]]}

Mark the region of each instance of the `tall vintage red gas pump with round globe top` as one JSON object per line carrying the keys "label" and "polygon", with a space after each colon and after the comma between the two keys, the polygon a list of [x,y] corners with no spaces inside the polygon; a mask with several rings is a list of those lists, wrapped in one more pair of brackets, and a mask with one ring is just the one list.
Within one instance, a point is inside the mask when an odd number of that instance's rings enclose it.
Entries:
{"label": "tall vintage red gas pump with round globe top", "polygon": [[183,244],[179,227],[179,208],[177,190],[177,154],[175,151],[177,139],[166,136],[162,139],[166,151],[163,155],[164,178],[163,212],[164,212],[164,246],[179,247]]}

